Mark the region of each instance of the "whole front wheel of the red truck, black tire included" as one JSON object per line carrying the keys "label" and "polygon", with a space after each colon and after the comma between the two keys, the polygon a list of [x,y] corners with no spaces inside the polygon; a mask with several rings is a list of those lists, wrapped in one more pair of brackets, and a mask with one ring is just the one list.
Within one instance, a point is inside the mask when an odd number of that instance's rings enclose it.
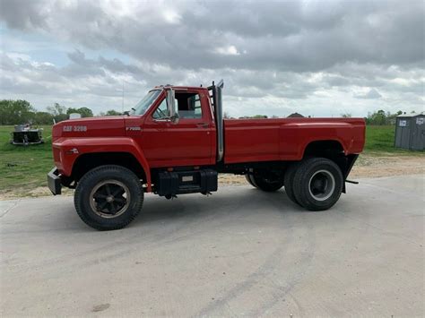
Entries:
{"label": "whole front wheel of the red truck, black tire included", "polygon": [[142,210],[143,185],[127,168],[93,168],[78,182],[74,205],[82,221],[91,228],[125,228]]}

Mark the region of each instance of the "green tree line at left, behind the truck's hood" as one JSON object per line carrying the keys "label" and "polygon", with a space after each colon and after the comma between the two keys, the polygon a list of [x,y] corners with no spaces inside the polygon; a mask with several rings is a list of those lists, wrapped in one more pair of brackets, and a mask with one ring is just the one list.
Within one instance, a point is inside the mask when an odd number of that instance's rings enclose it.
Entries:
{"label": "green tree line at left, behind the truck's hood", "polygon": [[[82,117],[92,117],[93,112],[88,107],[65,107],[58,103],[47,107],[47,111],[38,111],[27,100],[0,100],[0,125],[52,125],[69,118],[70,114],[77,113]],[[99,116],[121,115],[120,112],[110,109]]]}

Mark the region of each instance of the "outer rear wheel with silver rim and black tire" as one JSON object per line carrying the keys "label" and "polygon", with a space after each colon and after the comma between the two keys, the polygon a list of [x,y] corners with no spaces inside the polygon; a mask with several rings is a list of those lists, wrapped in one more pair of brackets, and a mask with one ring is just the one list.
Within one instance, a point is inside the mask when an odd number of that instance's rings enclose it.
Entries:
{"label": "outer rear wheel with silver rim and black tire", "polygon": [[311,158],[302,161],[295,172],[293,192],[295,198],[309,211],[323,211],[331,208],[343,191],[341,169],[325,158]]}

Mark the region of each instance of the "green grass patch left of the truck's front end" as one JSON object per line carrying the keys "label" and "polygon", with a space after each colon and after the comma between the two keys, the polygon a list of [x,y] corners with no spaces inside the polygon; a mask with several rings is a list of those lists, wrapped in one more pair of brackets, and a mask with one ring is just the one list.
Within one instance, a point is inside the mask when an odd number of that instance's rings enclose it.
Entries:
{"label": "green grass patch left of the truck's front end", "polygon": [[13,126],[0,126],[0,193],[25,196],[46,186],[46,174],[53,168],[51,126],[43,128],[45,143],[30,146],[10,144]]}

